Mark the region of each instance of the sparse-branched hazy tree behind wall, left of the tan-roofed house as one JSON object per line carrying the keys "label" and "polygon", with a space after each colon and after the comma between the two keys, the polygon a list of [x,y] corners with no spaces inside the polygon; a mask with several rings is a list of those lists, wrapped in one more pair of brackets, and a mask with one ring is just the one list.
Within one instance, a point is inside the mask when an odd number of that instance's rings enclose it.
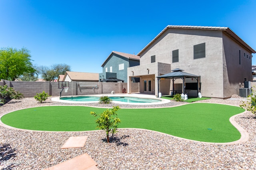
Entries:
{"label": "sparse-branched hazy tree behind wall, left of the tan-roofed house", "polygon": [[67,64],[53,64],[52,66],[39,66],[38,72],[41,74],[42,78],[46,81],[52,81],[60,74],[65,74],[66,71],[70,71],[70,66]]}

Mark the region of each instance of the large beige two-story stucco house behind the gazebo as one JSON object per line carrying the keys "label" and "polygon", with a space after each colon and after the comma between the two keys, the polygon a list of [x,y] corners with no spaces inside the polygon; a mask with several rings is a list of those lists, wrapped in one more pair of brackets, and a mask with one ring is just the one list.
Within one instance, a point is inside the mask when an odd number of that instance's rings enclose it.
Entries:
{"label": "large beige two-story stucco house behind the gazebo", "polygon": [[[156,77],[180,68],[200,76],[202,96],[228,98],[238,94],[240,83],[252,81],[252,53],[256,51],[228,27],[168,25],[138,53],[140,65],[128,68],[127,91],[131,78],[140,77],[140,92],[157,96]],[[160,80],[159,88],[170,94],[172,81]]]}

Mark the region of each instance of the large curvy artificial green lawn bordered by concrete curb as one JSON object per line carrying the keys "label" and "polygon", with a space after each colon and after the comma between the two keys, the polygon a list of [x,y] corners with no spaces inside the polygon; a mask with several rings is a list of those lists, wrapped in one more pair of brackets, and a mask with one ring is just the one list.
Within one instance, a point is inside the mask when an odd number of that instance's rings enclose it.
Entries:
{"label": "large curvy artificial green lawn bordered by concrete curb", "polygon": [[[8,113],[1,121],[20,129],[88,131],[96,127],[96,118],[90,111],[104,110],[84,106],[33,107]],[[243,111],[236,106],[206,103],[156,109],[122,108],[117,112],[121,119],[118,127],[149,129],[196,141],[231,142],[240,139],[240,133],[229,118]]]}

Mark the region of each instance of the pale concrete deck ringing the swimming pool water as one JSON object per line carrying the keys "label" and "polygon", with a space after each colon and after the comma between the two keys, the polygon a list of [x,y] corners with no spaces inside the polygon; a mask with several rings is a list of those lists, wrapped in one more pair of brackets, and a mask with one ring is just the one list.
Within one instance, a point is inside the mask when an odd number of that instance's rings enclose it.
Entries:
{"label": "pale concrete deck ringing the swimming pool water", "polygon": [[[142,98],[142,99],[155,99],[160,100],[160,102],[152,102],[152,103],[128,103],[128,102],[119,102],[112,100],[112,103],[116,104],[130,104],[130,105],[154,105],[154,104],[166,104],[169,103],[170,100],[157,98],[154,95],[149,94],[96,94],[96,95],[84,95],[84,96],[92,96],[92,97],[101,97],[101,96],[108,96],[108,97],[134,97],[134,98]],[[62,96],[62,97],[71,97],[71,96]],[[78,97],[78,96],[74,96]],[[98,101],[90,101],[90,102],[80,102],[80,101],[70,101],[70,100],[60,100],[61,97],[52,98],[54,102],[62,102],[62,103],[98,103]]]}

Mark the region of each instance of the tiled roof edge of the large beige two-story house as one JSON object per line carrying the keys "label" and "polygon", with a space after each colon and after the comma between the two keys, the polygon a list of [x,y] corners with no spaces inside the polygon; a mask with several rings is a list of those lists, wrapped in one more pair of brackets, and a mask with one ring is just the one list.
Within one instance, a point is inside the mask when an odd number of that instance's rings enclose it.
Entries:
{"label": "tiled roof edge of the large beige two-story house", "polygon": [[156,37],[146,45],[137,55],[140,55],[142,51],[144,51],[150,44],[152,44],[164,31],[166,31],[169,28],[178,28],[178,29],[208,29],[208,30],[221,30],[224,31],[229,37],[234,39],[237,43],[248,49],[251,53],[256,53],[252,47],[250,47],[244,40],[242,40],[234,31],[232,31],[229,27],[206,27],[206,26],[187,26],[187,25],[168,25],[167,27],[164,28]]}

